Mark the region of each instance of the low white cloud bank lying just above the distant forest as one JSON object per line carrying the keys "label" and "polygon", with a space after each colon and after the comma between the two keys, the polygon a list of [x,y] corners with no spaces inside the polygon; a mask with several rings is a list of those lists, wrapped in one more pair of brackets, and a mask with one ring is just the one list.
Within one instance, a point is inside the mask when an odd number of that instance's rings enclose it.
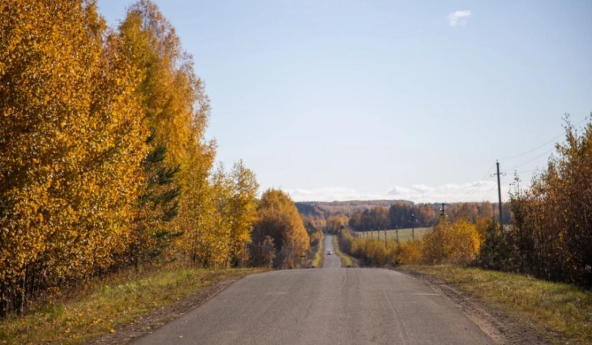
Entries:
{"label": "low white cloud bank lying just above the distant forest", "polygon": [[442,186],[394,186],[387,191],[361,193],[345,187],[317,189],[287,189],[295,201],[345,201],[345,200],[411,200],[413,202],[466,202],[496,201],[497,184],[494,181],[447,183]]}

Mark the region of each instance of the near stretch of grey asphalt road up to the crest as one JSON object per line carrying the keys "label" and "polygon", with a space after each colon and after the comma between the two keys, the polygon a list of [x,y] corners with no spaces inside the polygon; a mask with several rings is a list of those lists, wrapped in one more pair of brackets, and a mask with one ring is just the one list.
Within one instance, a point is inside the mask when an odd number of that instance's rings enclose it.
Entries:
{"label": "near stretch of grey asphalt road up to the crest", "polygon": [[136,344],[491,344],[411,276],[384,269],[252,274]]}

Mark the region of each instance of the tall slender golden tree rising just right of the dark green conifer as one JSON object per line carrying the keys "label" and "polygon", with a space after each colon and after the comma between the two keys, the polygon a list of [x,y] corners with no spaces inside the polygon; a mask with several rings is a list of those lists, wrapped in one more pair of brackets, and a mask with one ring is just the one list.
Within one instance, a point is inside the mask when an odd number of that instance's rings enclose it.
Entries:
{"label": "tall slender golden tree rising just right of the dark green conifer", "polygon": [[180,168],[175,177],[180,187],[178,216],[162,226],[172,234],[183,233],[175,241],[176,253],[188,254],[202,265],[224,263],[226,255],[218,257],[215,253],[220,251],[213,249],[219,240],[216,188],[210,179],[215,144],[204,140],[210,106],[191,56],[183,52],[175,29],[150,1],[128,9],[119,35],[127,56],[141,71],[137,93],[144,123],[154,135],[150,145],[164,146],[168,163]]}

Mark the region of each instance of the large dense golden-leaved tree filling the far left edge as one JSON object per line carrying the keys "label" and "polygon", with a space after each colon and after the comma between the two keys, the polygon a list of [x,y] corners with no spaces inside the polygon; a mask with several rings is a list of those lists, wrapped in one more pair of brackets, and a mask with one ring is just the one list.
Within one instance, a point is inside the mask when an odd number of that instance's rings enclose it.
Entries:
{"label": "large dense golden-leaved tree filling the far left edge", "polygon": [[137,70],[94,4],[1,1],[0,13],[4,313],[126,250],[146,133]]}

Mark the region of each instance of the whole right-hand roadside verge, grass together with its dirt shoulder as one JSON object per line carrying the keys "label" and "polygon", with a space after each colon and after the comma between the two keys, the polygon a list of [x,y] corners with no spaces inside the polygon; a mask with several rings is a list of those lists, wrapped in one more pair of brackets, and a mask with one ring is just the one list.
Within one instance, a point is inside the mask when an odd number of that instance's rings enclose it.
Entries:
{"label": "whole right-hand roadside verge, grass together with its dirt shoulder", "polygon": [[499,343],[592,343],[592,292],[514,273],[454,265],[401,266]]}

